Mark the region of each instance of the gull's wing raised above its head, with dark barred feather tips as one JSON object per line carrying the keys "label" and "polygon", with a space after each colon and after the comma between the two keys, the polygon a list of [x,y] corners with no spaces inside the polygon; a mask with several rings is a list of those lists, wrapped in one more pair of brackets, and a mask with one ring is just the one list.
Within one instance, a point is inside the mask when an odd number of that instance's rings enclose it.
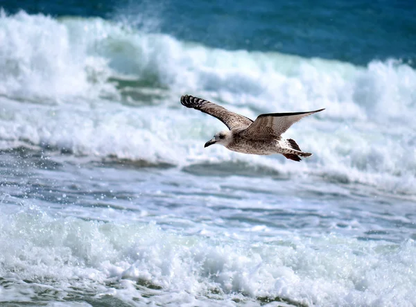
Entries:
{"label": "gull's wing raised above its head, with dark barred feather tips", "polygon": [[185,107],[193,107],[193,109],[199,109],[201,112],[216,117],[225,123],[229,130],[246,128],[253,123],[248,117],[229,112],[225,107],[221,107],[202,98],[185,95],[180,98],[180,103]]}

